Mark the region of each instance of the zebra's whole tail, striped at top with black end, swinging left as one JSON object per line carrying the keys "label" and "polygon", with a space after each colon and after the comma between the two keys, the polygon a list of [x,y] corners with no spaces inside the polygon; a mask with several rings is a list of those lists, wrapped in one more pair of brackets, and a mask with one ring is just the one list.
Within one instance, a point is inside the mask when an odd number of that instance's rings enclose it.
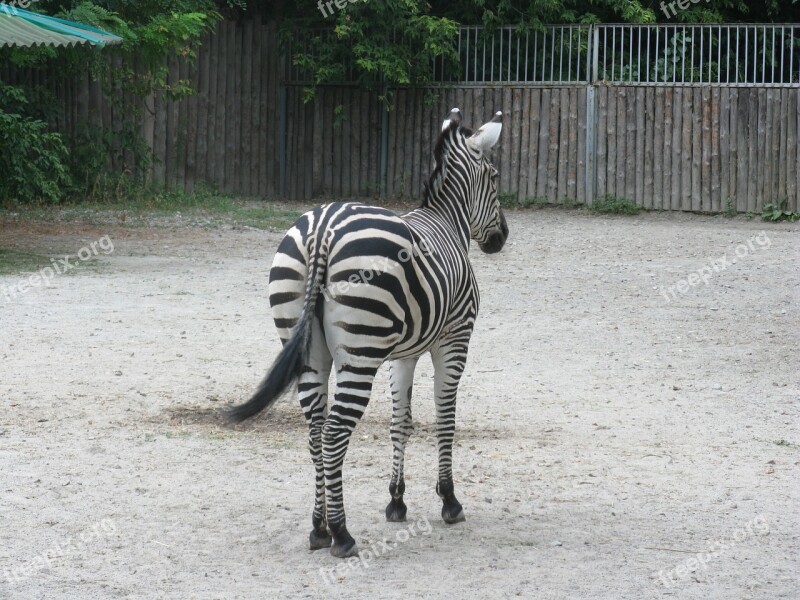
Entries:
{"label": "zebra's whole tail, striped at top with black end, swinging left", "polygon": [[286,392],[306,364],[311,347],[311,325],[327,267],[325,241],[327,240],[312,245],[315,251],[309,260],[303,311],[289,339],[253,397],[227,411],[226,416],[229,421],[241,422],[270,408]]}

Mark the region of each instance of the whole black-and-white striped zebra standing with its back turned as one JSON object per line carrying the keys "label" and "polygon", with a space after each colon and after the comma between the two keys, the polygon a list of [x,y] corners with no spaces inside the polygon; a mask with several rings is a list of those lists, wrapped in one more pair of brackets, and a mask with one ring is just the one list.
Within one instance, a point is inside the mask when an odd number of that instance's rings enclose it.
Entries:
{"label": "whole black-and-white striped zebra standing with its back turned", "polygon": [[[271,406],[296,380],[316,471],[311,550],[358,554],[347,530],[342,465],[367,407],[378,368],[389,367],[393,445],[386,519],[402,522],[403,464],[412,432],[411,394],[419,357],[434,366],[439,477],[446,523],[464,521],[452,474],[456,391],[478,313],[470,240],[499,252],[508,226],[497,199],[497,169],[487,154],[502,112],[476,132],[454,108],[442,124],[435,165],[419,208],[398,216],[334,202],[301,216],[281,241],[269,275],[269,301],[283,349],[253,397],[229,409],[242,421]],[[336,388],[328,402],[328,378]]]}

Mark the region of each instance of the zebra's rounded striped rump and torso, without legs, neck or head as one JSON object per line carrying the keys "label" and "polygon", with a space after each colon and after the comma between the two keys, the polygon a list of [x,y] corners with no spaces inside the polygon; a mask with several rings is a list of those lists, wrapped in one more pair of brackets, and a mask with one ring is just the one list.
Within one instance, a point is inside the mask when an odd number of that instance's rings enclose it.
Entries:
{"label": "zebra's rounded striped rump and torso, without legs, neck or head", "polygon": [[[304,214],[270,271],[281,338],[288,339],[303,310],[309,270],[321,269],[315,312],[332,351],[371,348],[394,358],[427,350],[459,301],[453,294],[459,273],[462,280],[472,275],[465,256],[443,254],[440,240],[429,237],[391,211],[363,204],[333,203]],[[454,269],[454,262],[463,265]]]}

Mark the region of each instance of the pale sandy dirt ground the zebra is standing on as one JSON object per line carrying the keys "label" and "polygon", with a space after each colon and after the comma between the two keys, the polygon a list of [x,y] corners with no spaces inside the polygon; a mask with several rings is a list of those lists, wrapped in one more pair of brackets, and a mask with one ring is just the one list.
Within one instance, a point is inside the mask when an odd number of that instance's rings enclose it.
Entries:
{"label": "pale sandy dirt ground the zebra is standing on", "polygon": [[385,522],[384,367],[345,466],[350,563],[308,550],[295,400],[236,428],[217,417],[279,349],[281,234],[0,227],[0,247],[52,256],[113,241],[48,287],[0,293],[0,598],[800,597],[800,227],[508,222],[502,253],[472,252],[467,520],[440,518],[423,359],[409,520]]}

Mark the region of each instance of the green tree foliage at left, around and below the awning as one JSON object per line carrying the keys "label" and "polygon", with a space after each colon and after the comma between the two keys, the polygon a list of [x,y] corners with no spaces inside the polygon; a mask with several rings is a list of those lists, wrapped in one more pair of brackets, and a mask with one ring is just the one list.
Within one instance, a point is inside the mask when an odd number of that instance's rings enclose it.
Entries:
{"label": "green tree foliage at left, around and below the awning", "polygon": [[[61,109],[48,89],[0,81],[0,94],[6,100],[5,108],[0,106],[0,166],[16,174],[4,178],[0,200],[54,202],[67,196],[86,197],[105,184],[118,189],[123,178],[144,172],[152,154],[139,131],[141,99],[156,92],[171,99],[191,93],[187,82],[168,79],[167,56],[193,57],[202,34],[221,18],[218,8],[243,6],[243,0],[228,0],[219,7],[213,0],[40,0],[33,4],[31,8],[38,12],[104,29],[125,41],[102,50],[6,49],[0,51],[0,60],[31,70],[47,69],[65,81],[85,77],[88,67],[115,103],[115,128],[103,130],[81,123],[69,136],[48,132],[47,122]],[[133,156],[133,164],[124,173],[111,173],[111,157],[123,153]]]}

